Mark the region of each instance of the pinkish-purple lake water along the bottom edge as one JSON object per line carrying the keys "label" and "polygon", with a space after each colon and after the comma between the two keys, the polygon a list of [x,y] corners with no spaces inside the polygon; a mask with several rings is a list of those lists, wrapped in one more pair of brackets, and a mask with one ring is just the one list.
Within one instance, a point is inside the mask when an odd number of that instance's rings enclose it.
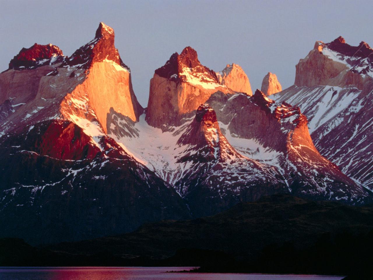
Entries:
{"label": "pinkish-purple lake water along the bottom edge", "polygon": [[1,280],[340,280],[341,276],[166,273],[191,267],[0,267]]}

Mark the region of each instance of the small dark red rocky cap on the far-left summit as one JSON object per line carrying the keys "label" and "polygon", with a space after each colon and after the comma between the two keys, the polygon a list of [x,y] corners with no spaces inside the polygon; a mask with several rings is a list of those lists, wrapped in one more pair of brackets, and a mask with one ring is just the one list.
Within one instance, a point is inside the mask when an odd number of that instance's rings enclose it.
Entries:
{"label": "small dark red rocky cap on the far-left summit", "polygon": [[65,59],[62,50],[52,44],[39,45],[35,43],[28,49],[22,50],[9,62],[8,69],[34,69],[44,65],[60,63]]}

